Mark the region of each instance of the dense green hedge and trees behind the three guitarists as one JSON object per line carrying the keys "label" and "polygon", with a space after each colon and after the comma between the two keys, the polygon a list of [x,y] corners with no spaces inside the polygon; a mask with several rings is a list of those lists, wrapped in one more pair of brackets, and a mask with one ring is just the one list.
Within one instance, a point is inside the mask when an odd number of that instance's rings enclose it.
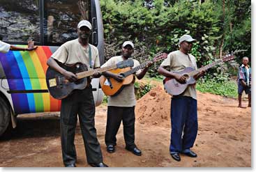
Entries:
{"label": "dense green hedge and trees behind the three guitarists", "polygon": [[[236,49],[246,49],[236,56],[250,57],[250,1],[164,1],[164,0],[101,0],[105,33],[106,59],[120,52],[123,41],[135,43],[133,58],[143,63],[161,52],[179,49],[179,38],[190,34],[197,40],[191,54],[197,58],[197,66],[207,65],[219,58],[224,36],[223,54]],[[149,77],[160,77],[154,63]],[[240,59],[239,59],[240,63]],[[212,68],[206,79],[225,81],[229,78],[229,65]]]}

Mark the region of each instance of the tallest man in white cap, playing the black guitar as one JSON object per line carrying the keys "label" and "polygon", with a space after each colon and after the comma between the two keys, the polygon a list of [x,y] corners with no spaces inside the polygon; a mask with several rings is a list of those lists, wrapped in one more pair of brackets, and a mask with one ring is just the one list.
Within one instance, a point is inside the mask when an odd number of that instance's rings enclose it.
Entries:
{"label": "tallest man in white cap, playing the black guitar", "polygon": [[[70,81],[76,81],[77,76],[73,72],[61,68],[56,61],[67,65],[80,62],[87,65],[88,68],[100,67],[98,49],[89,44],[91,23],[87,20],[79,22],[77,33],[77,39],[61,45],[47,61],[47,65],[60,72]],[[93,77],[99,76],[98,72],[93,73]],[[84,90],[75,90],[71,95],[61,100],[61,148],[63,163],[68,167],[75,167],[77,161],[74,144],[77,114],[84,139],[87,162],[91,166],[107,166],[103,163],[100,143],[98,143],[96,128],[94,127],[95,105],[89,78],[88,83]]]}

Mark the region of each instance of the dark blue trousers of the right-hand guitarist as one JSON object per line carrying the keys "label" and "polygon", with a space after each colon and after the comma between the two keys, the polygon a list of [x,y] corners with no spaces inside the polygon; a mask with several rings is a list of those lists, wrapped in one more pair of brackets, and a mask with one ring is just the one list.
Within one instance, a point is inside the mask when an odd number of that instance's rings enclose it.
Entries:
{"label": "dark blue trousers of the right-hand guitarist", "polygon": [[192,148],[198,130],[197,100],[187,96],[172,97],[171,124],[170,153]]}

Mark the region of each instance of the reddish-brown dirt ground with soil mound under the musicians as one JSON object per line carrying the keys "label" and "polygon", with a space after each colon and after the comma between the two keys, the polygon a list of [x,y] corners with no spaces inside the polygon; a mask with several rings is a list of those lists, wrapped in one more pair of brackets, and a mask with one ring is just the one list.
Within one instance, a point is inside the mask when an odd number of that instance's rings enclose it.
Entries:
{"label": "reddish-brown dirt ground with soil mound under the musicians", "polygon": [[[107,153],[104,135],[107,107],[96,107],[96,129],[104,162],[112,167],[225,167],[251,166],[251,109],[240,109],[237,100],[197,93],[199,130],[192,148],[198,157],[181,155],[176,162],[169,154],[170,95],[156,86],[137,101],[135,141],[142,150],[137,157],[125,150],[123,127],[117,134],[115,153]],[[247,104],[243,100],[244,105]],[[0,140],[0,166],[63,166],[59,113],[23,115],[17,128]],[[84,143],[77,123],[77,166],[86,163]]]}

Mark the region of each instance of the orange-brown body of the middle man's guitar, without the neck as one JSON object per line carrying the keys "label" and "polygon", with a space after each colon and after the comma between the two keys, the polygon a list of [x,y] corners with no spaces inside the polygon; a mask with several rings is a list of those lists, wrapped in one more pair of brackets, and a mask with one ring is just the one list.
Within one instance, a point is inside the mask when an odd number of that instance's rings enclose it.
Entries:
{"label": "orange-brown body of the middle man's guitar, without the neck", "polygon": [[[123,69],[110,70],[110,72],[112,72],[114,74],[121,74],[121,73],[127,72],[129,70],[130,70],[130,68],[123,68]],[[110,82],[112,84],[112,88],[111,88],[110,84],[107,84],[107,82],[108,82],[107,78],[104,76],[101,76],[100,77],[100,86],[101,86],[103,92],[105,93],[105,95],[114,96],[114,95],[117,95],[118,93],[120,93],[122,91],[123,87],[132,83],[132,81],[133,81],[133,75],[129,75],[128,77],[123,79],[122,82],[119,82],[113,78],[110,78]]]}

